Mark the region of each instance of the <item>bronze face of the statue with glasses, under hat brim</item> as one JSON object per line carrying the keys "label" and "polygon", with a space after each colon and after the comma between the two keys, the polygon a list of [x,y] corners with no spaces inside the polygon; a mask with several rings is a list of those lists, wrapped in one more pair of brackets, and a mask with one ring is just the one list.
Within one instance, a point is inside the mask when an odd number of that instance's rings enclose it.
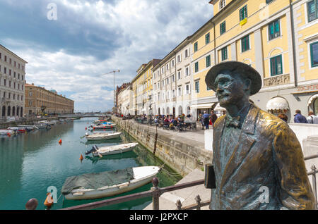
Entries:
{"label": "bronze face of the statue with glasses, under hat brim", "polygon": [[220,106],[230,104],[240,104],[247,99],[248,95],[245,92],[246,85],[239,75],[228,74],[226,72],[220,73],[214,82],[216,85],[216,97],[220,102]]}

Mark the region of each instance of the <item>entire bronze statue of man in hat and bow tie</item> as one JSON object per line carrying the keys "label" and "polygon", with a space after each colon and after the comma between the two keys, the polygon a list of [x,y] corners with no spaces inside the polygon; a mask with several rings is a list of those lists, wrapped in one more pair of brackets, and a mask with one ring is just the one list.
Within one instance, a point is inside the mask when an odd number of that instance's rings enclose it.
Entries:
{"label": "entire bronze statue of man in hat and bow tie", "polygon": [[210,209],[315,209],[295,133],[249,101],[261,89],[257,70],[228,61],[205,81],[227,111],[214,124]]}

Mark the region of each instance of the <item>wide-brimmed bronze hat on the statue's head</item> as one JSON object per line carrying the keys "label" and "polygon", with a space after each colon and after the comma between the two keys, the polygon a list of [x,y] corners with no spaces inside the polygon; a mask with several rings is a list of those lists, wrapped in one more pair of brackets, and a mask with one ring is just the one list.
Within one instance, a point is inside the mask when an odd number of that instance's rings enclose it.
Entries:
{"label": "wide-brimmed bronze hat on the statue's head", "polygon": [[206,85],[210,89],[213,89],[214,92],[216,92],[216,85],[214,85],[214,81],[223,71],[230,71],[238,75],[242,74],[252,80],[251,95],[256,94],[259,92],[259,89],[261,89],[261,75],[259,75],[257,70],[240,61],[225,61],[213,66],[210,70],[208,70],[208,74],[206,75]]}

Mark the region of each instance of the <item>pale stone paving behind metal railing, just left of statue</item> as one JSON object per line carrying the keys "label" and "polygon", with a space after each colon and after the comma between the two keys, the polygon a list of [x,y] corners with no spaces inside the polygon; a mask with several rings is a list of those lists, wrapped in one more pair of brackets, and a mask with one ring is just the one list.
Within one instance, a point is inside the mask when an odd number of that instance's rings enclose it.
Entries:
{"label": "pale stone paving behind metal railing, just left of statue", "polygon": [[[195,180],[204,179],[204,171],[193,170],[192,173],[186,175],[182,180],[176,183],[182,184],[185,182],[192,182]],[[159,209],[160,210],[175,210],[177,209],[176,203],[179,199],[181,201],[182,207],[196,204],[195,197],[196,195],[200,196],[201,201],[206,201],[211,199],[211,189],[206,189],[204,185],[197,185],[194,187],[187,187],[184,189],[178,189],[173,192],[165,192],[159,197]],[[149,204],[143,210],[152,210],[153,204]],[[208,210],[208,206],[204,206],[201,210]]]}

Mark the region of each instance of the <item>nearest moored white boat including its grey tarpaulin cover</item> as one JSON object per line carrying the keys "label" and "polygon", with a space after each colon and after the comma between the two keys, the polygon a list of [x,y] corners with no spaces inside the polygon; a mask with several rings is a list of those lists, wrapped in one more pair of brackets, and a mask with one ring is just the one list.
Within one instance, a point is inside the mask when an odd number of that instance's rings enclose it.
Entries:
{"label": "nearest moored white boat including its grey tarpaulin cover", "polygon": [[73,176],[65,180],[61,192],[69,200],[110,197],[148,184],[160,169],[158,166],[140,166]]}

